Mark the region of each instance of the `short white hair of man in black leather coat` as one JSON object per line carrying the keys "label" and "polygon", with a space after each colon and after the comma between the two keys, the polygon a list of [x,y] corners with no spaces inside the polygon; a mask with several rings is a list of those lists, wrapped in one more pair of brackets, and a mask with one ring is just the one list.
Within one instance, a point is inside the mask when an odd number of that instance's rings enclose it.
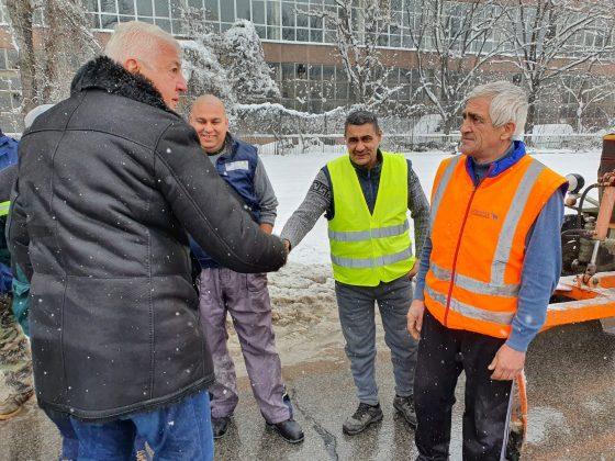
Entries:
{"label": "short white hair of man in black leather coat", "polygon": [[149,61],[158,53],[160,42],[177,48],[178,54],[181,53],[181,47],[172,35],[157,25],[138,21],[125,22],[115,27],[104,47],[104,56],[121,65],[130,58]]}

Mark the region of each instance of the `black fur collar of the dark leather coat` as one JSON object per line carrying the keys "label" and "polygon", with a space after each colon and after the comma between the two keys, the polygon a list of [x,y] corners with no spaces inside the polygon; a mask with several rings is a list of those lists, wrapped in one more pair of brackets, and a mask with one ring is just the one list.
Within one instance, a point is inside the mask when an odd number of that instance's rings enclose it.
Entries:
{"label": "black fur collar of the dark leather coat", "polygon": [[128,72],[107,56],[99,56],[90,60],[77,71],[70,85],[70,93],[75,94],[91,88],[175,113],[167,108],[163,95],[150,80],[142,75]]}

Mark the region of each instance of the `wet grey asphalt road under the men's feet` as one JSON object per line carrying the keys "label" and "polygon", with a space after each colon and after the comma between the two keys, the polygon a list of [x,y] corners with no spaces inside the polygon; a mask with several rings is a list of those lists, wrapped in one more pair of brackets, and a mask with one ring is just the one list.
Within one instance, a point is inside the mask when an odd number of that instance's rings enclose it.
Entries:
{"label": "wet grey asphalt road under the men's feet", "polygon": [[[343,351],[316,362],[284,368],[305,441],[291,446],[266,429],[246,379],[227,435],[216,442],[221,460],[407,460],[416,456],[413,432],[393,416],[389,356],[380,348],[378,382],[384,419],[348,437],[342,423],[357,402]],[[283,357],[282,357],[283,361]],[[615,337],[597,323],[560,327],[541,334],[527,361],[529,432],[527,460],[615,460]],[[458,397],[462,395],[462,381]],[[458,398],[462,402],[462,398]],[[461,404],[456,405],[451,459],[460,459]],[[59,437],[33,403],[0,423],[0,460],[52,460]]]}

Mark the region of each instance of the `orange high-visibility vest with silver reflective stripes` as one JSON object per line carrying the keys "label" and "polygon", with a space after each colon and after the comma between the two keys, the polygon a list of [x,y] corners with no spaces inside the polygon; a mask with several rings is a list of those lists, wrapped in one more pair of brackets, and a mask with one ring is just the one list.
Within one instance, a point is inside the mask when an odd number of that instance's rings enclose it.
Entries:
{"label": "orange high-visibility vest with silver reflective stripes", "polygon": [[444,160],[434,181],[425,305],[448,328],[507,338],[526,237],[566,179],[525,155],[474,187],[466,161]]}

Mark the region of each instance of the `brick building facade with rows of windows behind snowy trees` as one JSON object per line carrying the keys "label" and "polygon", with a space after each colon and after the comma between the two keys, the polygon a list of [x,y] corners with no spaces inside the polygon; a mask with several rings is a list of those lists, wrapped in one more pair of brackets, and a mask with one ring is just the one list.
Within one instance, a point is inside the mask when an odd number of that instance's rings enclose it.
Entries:
{"label": "brick building facade with rows of windows behind snowy trees", "polygon": [[[336,0],[81,0],[89,26],[100,34],[110,33],[118,23],[138,20],[159,25],[182,38],[188,36],[187,15],[199,12],[208,27],[224,32],[237,20],[249,20],[262,41],[266,60],[272,69],[281,91],[281,102],[289,109],[320,113],[354,101],[342,61],[338,57],[335,25],[322,15],[342,14]],[[351,0],[350,21],[359,30],[365,0]],[[387,85],[399,88],[394,100],[401,104],[413,100],[420,85],[416,57],[413,52],[412,31],[420,27],[421,8],[425,0],[387,0],[391,8],[391,21],[379,36],[383,63],[392,68]],[[451,32],[460,27],[465,9],[462,1],[446,3],[447,26]],[[497,15],[499,7],[490,7],[483,14]],[[457,29],[456,29],[457,27]],[[0,3],[0,29],[9,33],[5,8]],[[580,32],[578,46],[600,45],[600,31],[588,27]],[[489,31],[481,52],[489,53],[505,41],[504,32]],[[436,38],[427,40],[436,46]],[[16,53],[11,41],[3,40],[0,48],[0,126],[4,131],[19,131],[19,76]],[[1,46],[1,45],[0,45]],[[504,47],[502,53],[511,53]],[[575,48],[567,52],[574,56]],[[493,72],[496,76],[497,72]],[[521,75],[504,78],[515,81]],[[420,100],[421,102],[421,100]],[[425,101],[426,102],[426,101]],[[566,103],[566,101],[563,101]],[[546,108],[554,111],[554,105]],[[559,111],[559,109],[558,109]],[[566,108],[563,109],[566,112]],[[560,111],[561,112],[561,111]],[[555,119],[562,115],[551,114]],[[559,122],[556,121],[556,122]],[[7,128],[9,127],[9,128]]]}

